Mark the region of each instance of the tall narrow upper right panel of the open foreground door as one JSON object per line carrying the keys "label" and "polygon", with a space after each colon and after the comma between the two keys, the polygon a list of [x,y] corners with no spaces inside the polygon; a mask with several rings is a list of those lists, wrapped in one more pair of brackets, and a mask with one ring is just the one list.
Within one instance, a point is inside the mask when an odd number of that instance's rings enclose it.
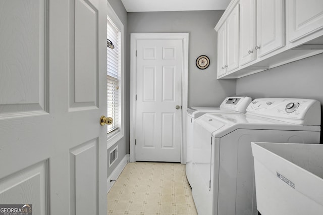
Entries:
{"label": "tall narrow upper right panel of the open foreground door", "polygon": [[96,100],[96,60],[97,10],[88,1],[76,0],[75,102],[94,102]]}

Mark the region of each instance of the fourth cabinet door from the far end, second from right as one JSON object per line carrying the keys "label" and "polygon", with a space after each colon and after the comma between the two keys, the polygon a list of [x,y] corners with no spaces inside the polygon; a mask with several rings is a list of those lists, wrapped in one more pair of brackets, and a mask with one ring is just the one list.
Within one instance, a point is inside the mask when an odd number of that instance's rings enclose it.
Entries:
{"label": "fourth cabinet door from the far end, second from right", "polygon": [[257,58],[285,45],[284,0],[257,0]]}

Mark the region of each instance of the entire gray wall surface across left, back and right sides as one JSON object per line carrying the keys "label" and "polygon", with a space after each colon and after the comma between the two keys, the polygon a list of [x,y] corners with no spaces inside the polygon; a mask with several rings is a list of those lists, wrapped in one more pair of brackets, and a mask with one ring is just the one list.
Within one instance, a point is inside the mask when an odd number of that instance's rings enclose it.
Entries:
{"label": "entire gray wall surface across left, back and right sides", "polygon": [[[323,54],[263,71],[237,80],[217,80],[217,32],[214,26],[224,11],[127,13],[120,0],[108,0],[125,27],[125,136],[119,157],[129,153],[130,132],[130,33],[189,33],[188,106],[219,106],[224,97],[302,97],[323,104]],[[199,70],[195,60],[210,59],[210,66]],[[121,159],[120,159],[121,160]],[[109,176],[120,160],[107,170]]]}

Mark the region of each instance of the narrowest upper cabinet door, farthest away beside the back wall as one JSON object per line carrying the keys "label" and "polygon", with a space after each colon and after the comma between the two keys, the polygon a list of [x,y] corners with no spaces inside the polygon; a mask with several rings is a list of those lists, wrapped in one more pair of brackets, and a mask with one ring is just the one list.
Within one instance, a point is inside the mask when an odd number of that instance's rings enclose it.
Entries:
{"label": "narrowest upper cabinet door, farthest away beside the back wall", "polygon": [[226,74],[227,23],[218,31],[218,77]]}

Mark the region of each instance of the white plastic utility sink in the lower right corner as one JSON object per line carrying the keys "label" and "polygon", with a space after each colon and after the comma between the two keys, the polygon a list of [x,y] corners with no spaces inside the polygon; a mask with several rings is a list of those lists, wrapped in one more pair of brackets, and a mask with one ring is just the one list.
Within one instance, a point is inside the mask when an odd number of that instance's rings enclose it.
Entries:
{"label": "white plastic utility sink in the lower right corner", "polygon": [[323,144],[251,142],[262,215],[323,214]]}

